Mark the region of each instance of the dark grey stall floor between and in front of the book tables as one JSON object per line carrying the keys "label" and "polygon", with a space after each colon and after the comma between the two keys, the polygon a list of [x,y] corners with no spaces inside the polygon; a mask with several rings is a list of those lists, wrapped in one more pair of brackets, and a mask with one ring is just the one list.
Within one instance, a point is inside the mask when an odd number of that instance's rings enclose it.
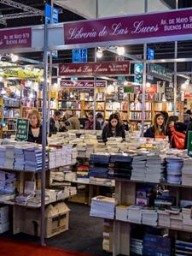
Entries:
{"label": "dark grey stall floor between and in front of the book tables", "polygon": [[[67,205],[71,209],[69,214],[69,230],[61,233],[60,235],[55,235],[52,238],[46,239],[47,246],[58,247],[75,253],[90,253],[97,256],[110,256],[110,253],[102,251],[103,219],[90,217],[90,207],[88,205],[74,203],[67,203]],[[15,241],[32,242],[37,245],[39,243],[38,237],[26,234],[12,235],[10,233],[6,233],[0,235],[0,240],[1,237],[11,238]],[[7,253],[2,254],[1,247],[0,255],[8,256]],[[11,256],[12,255],[16,256],[15,254],[11,254]],[[20,256],[23,255],[20,254]],[[31,256],[31,254],[27,254],[27,256]],[[35,256],[38,255],[35,254]],[[57,254],[55,254],[55,256],[57,256]]]}

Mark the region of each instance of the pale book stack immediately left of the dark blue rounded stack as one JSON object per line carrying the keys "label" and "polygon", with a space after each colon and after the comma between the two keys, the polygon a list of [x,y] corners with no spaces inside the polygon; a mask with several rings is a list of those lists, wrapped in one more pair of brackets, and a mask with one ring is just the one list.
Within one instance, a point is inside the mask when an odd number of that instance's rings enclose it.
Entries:
{"label": "pale book stack immediately left of the dark blue rounded stack", "polygon": [[146,182],[162,182],[166,174],[164,158],[157,154],[149,154],[147,157]]}

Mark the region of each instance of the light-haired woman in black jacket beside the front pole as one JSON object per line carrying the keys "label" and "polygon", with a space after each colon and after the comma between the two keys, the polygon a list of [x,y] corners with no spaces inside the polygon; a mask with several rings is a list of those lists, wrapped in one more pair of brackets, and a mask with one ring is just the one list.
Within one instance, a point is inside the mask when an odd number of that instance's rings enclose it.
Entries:
{"label": "light-haired woman in black jacket beside the front pole", "polygon": [[42,125],[41,116],[38,110],[30,110],[28,113],[29,119],[29,130],[28,130],[28,140],[29,142],[35,142],[42,144]]}

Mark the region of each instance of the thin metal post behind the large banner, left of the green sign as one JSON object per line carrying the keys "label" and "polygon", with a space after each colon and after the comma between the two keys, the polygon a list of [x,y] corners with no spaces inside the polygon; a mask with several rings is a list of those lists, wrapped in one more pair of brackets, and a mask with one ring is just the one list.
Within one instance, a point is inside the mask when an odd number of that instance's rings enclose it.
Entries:
{"label": "thin metal post behind the large banner, left of the green sign", "polygon": [[[148,12],[148,0],[145,0],[144,12]],[[145,89],[146,89],[146,74],[147,74],[147,44],[143,45],[143,87],[142,87],[142,137],[144,134],[145,123]]]}

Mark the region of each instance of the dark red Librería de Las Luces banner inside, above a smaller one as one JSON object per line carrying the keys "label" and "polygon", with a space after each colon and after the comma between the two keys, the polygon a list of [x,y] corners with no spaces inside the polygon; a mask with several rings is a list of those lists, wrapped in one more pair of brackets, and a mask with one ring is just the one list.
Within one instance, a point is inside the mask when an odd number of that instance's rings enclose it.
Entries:
{"label": "dark red Librer\u00eda de Las Luces banner inside, above a smaller one", "polygon": [[129,62],[66,63],[59,65],[61,76],[96,76],[129,74]]}

